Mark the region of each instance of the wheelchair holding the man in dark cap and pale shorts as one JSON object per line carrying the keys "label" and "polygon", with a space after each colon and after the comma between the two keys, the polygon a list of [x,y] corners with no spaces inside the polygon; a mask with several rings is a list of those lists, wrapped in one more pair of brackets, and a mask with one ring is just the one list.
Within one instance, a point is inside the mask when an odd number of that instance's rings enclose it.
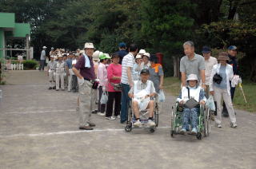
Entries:
{"label": "wheelchair holding the man in dark cap and pale shorts", "polygon": [[154,100],[154,117],[153,121],[155,123],[154,127],[149,127],[147,125],[148,122],[148,115],[149,115],[149,109],[142,110],[139,112],[140,115],[140,121],[142,125],[140,127],[134,127],[134,122],[136,121],[136,118],[134,116],[133,108],[132,108],[132,100],[130,100],[129,106],[128,106],[128,120],[126,121],[126,132],[131,132],[134,128],[147,128],[149,129],[150,133],[153,133],[155,129],[158,127],[158,117],[159,117],[159,108],[156,97],[150,97],[150,100]]}

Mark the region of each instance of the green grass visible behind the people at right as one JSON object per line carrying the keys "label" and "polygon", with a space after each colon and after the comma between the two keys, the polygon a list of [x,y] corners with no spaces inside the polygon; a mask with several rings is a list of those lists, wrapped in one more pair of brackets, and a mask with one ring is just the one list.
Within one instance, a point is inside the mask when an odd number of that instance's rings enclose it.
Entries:
{"label": "green grass visible behind the people at right", "polygon": [[[172,96],[178,96],[181,90],[181,81],[178,77],[166,77],[164,80],[165,91]],[[250,81],[243,81],[242,88],[246,95],[246,100],[243,99],[242,91],[239,87],[234,93],[234,108],[242,109],[247,112],[256,112],[256,84]]]}

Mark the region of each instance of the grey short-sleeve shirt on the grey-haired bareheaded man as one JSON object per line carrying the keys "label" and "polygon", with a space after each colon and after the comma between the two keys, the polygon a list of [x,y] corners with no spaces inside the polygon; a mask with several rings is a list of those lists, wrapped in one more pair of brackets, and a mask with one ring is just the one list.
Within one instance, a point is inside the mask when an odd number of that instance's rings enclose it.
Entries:
{"label": "grey short-sleeve shirt on the grey-haired bareheaded man", "polygon": [[188,77],[191,73],[198,76],[198,80],[201,80],[200,70],[205,70],[205,59],[201,55],[194,53],[194,57],[190,60],[189,57],[184,56],[180,62],[180,72],[186,73]]}

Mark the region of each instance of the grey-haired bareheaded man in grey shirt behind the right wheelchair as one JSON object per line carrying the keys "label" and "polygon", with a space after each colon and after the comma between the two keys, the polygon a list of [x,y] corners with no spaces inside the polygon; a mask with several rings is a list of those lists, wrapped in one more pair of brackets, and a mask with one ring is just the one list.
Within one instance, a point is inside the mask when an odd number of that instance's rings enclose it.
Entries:
{"label": "grey-haired bareheaded man in grey shirt behind the right wheelchair", "polygon": [[201,55],[194,53],[194,42],[186,41],[183,44],[184,53],[180,62],[180,72],[182,73],[182,86],[186,86],[186,78],[190,74],[196,74],[198,82],[202,81],[202,88],[206,88],[205,61]]}

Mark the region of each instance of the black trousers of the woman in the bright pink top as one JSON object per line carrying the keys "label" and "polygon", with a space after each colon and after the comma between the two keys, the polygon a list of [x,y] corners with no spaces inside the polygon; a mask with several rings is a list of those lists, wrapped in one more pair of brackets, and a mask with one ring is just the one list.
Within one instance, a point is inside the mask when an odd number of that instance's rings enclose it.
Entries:
{"label": "black trousers of the woman in the bright pink top", "polygon": [[114,116],[120,115],[122,92],[108,92],[106,103],[106,116],[112,116],[114,103]]}

